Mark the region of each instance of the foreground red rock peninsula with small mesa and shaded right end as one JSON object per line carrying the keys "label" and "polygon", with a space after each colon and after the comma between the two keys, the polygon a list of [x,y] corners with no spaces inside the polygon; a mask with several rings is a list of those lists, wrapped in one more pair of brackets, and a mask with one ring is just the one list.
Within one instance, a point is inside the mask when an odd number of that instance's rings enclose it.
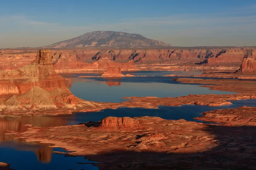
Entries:
{"label": "foreground red rock peninsula with small mesa and shaded right end", "polygon": [[[31,127],[26,132],[10,133],[27,142],[51,143],[74,151],[69,155],[102,162],[95,164],[102,170],[253,170],[256,169],[256,127],[255,121],[249,118],[250,111],[255,112],[256,108],[241,110],[243,119],[237,124],[233,124],[236,119],[222,118],[224,125],[148,116],[108,117],[84,125]],[[218,121],[218,117],[215,120]]]}

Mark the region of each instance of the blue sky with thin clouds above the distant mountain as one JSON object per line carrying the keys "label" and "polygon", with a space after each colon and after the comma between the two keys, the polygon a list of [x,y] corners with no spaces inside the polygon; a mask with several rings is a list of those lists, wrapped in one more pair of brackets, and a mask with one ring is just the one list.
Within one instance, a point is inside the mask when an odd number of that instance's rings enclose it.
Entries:
{"label": "blue sky with thin clouds above the distant mountain", "polygon": [[6,0],[0,23],[0,48],[102,30],[174,46],[256,46],[256,0]]}

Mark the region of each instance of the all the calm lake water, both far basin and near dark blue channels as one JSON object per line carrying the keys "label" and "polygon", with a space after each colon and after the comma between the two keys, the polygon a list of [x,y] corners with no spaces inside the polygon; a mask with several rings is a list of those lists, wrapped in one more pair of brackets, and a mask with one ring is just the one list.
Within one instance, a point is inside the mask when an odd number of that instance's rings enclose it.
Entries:
{"label": "all the calm lake water, both far basin and near dark blue channels", "polygon": [[[120,102],[124,96],[158,96],[177,97],[188,94],[233,94],[225,91],[212,91],[198,85],[181,84],[172,81],[174,77],[161,77],[167,74],[193,75],[198,72],[187,71],[140,71],[124,74],[154,75],[155,77],[124,77],[122,79],[105,78],[76,78],[80,75],[99,76],[99,74],[62,74],[70,79],[67,85],[76,96],[99,102]],[[13,139],[14,136],[5,135],[5,130],[24,131],[27,124],[38,127],[52,127],[61,125],[77,125],[82,122],[100,121],[107,116],[136,117],[158,116],[163,119],[186,119],[201,116],[200,113],[220,108],[236,108],[243,105],[256,106],[256,100],[231,101],[233,105],[221,107],[209,107],[199,105],[183,105],[181,107],[159,106],[158,109],[145,108],[118,108],[105,109],[99,112],[73,113],[71,115],[0,115],[0,162],[11,164],[16,170],[97,170],[92,161],[84,157],[67,157],[52,153],[52,151],[64,151],[61,148],[48,147],[45,144],[27,143],[21,139]],[[78,162],[89,164],[77,164]]]}

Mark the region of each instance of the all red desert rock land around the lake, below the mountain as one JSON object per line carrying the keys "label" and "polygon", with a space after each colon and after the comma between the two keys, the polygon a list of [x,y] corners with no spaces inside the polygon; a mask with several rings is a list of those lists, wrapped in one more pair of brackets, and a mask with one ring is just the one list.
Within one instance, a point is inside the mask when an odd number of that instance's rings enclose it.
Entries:
{"label": "all red desert rock land around the lake, below the mountain", "polygon": [[[210,49],[3,49],[0,50],[1,115],[57,115],[117,108],[232,105],[256,99],[256,48]],[[179,97],[126,97],[119,103],[80,99],[69,90],[70,80],[58,73],[99,72],[99,77],[125,76],[123,71],[189,71],[196,76],[167,75],[181,84],[234,94],[191,94]],[[205,72],[206,71],[206,72]],[[127,74],[126,74],[127,75]],[[86,77],[86,76],[85,76]],[[80,78],[85,78],[81,76]],[[147,77],[147,76],[145,76]],[[208,77],[205,79],[205,77]],[[214,77],[215,79],[211,79]],[[221,79],[216,79],[221,78]],[[247,80],[241,80],[247,79]],[[71,84],[70,84],[71,83]],[[108,82],[109,86],[121,82]],[[106,117],[79,125],[7,128],[15,140],[50,144],[85,156],[99,169],[256,169],[256,108],[207,111],[191,122],[160,117]],[[209,123],[206,123],[209,122]],[[48,148],[48,147],[47,147]],[[37,151],[49,159],[52,150]],[[8,162],[6,162],[8,163]],[[83,164],[83,162],[79,162]],[[10,167],[12,164],[10,165]],[[8,169],[9,164],[1,163]]]}

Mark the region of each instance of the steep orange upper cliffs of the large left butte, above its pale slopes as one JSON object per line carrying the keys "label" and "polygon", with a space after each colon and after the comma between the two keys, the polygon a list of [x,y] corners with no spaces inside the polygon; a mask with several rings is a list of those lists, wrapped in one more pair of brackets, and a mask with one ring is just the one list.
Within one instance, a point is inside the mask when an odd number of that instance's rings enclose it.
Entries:
{"label": "steep orange upper cliffs of the large left butte, above its pale slopes", "polygon": [[65,79],[55,73],[49,50],[39,50],[34,61],[16,71],[3,71],[0,79],[2,95],[24,94],[35,86],[47,91],[67,89]]}

